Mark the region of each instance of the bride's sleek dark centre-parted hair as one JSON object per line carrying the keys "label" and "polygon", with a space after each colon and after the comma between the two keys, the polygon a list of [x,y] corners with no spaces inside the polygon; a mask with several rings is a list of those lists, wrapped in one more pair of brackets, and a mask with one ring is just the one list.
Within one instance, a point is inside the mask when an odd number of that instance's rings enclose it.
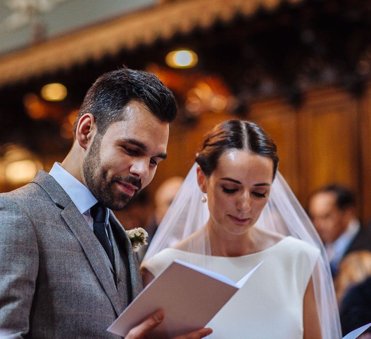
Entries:
{"label": "bride's sleek dark centre-parted hair", "polygon": [[245,120],[227,120],[216,125],[207,135],[196,163],[209,176],[216,169],[219,157],[226,150],[246,149],[273,160],[273,178],[277,171],[277,147],[258,125]]}

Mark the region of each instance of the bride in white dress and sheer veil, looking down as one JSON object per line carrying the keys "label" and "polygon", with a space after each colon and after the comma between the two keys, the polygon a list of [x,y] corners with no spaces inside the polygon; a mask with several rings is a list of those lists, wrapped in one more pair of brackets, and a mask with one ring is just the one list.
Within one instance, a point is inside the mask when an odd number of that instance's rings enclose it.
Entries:
{"label": "bride in white dress and sheer veil, looking down", "polygon": [[235,282],[263,262],[209,322],[211,337],[339,339],[321,240],[277,166],[258,125],[229,120],[211,130],[149,246],[144,284],[174,259]]}

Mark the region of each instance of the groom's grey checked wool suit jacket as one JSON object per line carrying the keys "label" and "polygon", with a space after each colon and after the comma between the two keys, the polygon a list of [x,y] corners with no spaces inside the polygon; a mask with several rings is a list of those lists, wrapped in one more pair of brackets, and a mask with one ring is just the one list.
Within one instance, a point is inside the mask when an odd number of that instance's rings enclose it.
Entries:
{"label": "groom's grey checked wool suit jacket", "polygon": [[117,337],[106,329],[142,286],[130,239],[111,212],[109,224],[116,274],[49,174],[0,194],[0,329],[11,338]]}

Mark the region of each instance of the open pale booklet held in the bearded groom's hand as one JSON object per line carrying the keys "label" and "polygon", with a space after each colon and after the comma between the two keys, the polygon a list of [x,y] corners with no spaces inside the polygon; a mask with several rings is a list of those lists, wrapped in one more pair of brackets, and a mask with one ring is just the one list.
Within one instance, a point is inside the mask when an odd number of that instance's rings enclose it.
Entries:
{"label": "open pale booklet held in the bearded groom's hand", "polygon": [[203,328],[246,283],[262,262],[239,282],[204,268],[174,260],[130,303],[107,331],[126,336],[151,313],[165,318],[150,338],[170,338]]}

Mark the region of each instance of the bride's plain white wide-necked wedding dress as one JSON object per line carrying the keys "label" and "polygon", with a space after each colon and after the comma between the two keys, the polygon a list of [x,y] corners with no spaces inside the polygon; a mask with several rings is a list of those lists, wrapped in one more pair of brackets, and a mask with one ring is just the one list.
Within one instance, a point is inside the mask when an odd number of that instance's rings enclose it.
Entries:
{"label": "bride's plain white wide-necked wedding dress", "polygon": [[209,337],[299,339],[303,338],[304,293],[319,256],[317,248],[287,236],[266,250],[241,257],[212,256],[205,260],[201,254],[168,248],[148,259],[144,266],[156,276],[174,259],[198,266],[207,262],[208,269],[238,282],[263,261],[245,286],[209,322],[207,327],[213,329]]}

